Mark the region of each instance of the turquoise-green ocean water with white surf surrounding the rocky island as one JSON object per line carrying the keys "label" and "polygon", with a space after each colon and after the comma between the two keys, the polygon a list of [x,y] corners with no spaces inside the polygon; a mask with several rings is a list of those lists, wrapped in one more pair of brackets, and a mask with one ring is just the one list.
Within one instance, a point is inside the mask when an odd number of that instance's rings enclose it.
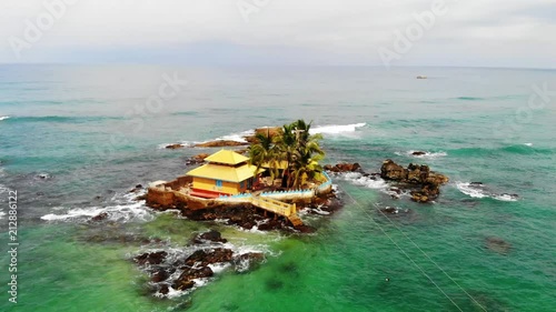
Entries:
{"label": "turquoise-green ocean water with white surf surrounding the rocky island", "polygon": [[[188,83],[149,102],[165,74]],[[529,102],[545,88],[556,89],[555,71],[0,66],[1,250],[9,190],[20,242],[18,304],[8,301],[2,252],[0,310],[556,311],[556,95]],[[391,199],[384,181],[336,177],[346,205],[304,215],[318,229],[311,235],[196,223],[128,193],[212,151],[165,143],[299,118],[325,135],[328,163],[376,172],[390,158],[451,181],[435,203],[416,204]],[[377,209],[387,205],[408,212],[386,218]],[[113,222],[87,222],[103,211]],[[149,295],[130,259],[159,246],[140,239],[179,249],[209,227],[266,252],[267,263],[225,270],[192,294]],[[487,248],[493,236],[507,253]]]}

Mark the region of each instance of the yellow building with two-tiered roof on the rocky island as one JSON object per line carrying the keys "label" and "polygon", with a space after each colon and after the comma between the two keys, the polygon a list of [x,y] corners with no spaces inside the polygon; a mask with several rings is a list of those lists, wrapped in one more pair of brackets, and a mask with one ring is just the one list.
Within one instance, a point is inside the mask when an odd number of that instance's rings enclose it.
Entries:
{"label": "yellow building with two-tiered roof on the rocky island", "polygon": [[206,164],[196,168],[187,175],[192,177],[191,195],[218,198],[234,195],[251,190],[257,175],[265,171],[248,164],[249,159],[235,151],[220,150],[205,159]]}

